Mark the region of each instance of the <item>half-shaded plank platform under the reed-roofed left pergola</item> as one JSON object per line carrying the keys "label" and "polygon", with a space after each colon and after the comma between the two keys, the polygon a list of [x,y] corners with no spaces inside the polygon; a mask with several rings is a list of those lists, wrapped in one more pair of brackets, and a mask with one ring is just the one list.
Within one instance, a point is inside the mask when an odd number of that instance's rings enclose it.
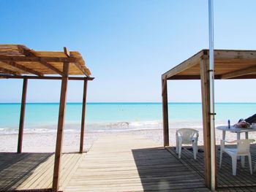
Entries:
{"label": "half-shaded plank platform under the reed-roofed left pergola", "polygon": [[[83,155],[62,155],[61,188],[66,186]],[[0,153],[0,191],[51,188],[53,161],[53,153]]]}

